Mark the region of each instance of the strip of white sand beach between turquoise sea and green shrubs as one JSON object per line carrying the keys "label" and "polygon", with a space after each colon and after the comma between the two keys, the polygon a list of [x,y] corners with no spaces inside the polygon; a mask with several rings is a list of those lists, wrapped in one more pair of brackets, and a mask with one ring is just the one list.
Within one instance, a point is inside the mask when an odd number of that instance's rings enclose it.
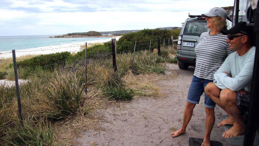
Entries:
{"label": "strip of white sand beach between turquoise sea and green shrubs", "polygon": [[[57,52],[78,52],[81,51],[81,45],[87,44],[96,44],[96,43],[104,43],[111,41],[111,39],[116,39],[116,41],[121,36],[117,36],[110,39],[100,39],[96,41],[87,41],[87,42],[77,42],[77,43],[70,43],[70,44],[62,44],[62,45],[55,45],[55,46],[47,46],[47,47],[38,47],[38,48],[32,48],[32,49],[23,49],[23,50],[16,50],[15,56],[20,57],[28,54],[33,55],[40,55],[40,54],[52,54]],[[0,61],[1,59],[13,57],[12,51],[0,51]]]}

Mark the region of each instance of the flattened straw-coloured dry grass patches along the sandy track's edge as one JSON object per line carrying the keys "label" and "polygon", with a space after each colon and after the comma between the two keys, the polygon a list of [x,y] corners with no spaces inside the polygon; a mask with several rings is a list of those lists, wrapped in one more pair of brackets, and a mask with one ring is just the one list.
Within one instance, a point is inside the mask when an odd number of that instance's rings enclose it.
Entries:
{"label": "flattened straw-coloured dry grass patches along the sandy track's edge", "polygon": [[[157,74],[145,74],[145,75],[133,75],[129,73],[124,77],[126,81],[126,85],[129,85],[130,88],[136,90],[138,94],[134,98],[148,98],[152,97],[154,99],[157,98],[165,98],[162,92],[160,92],[161,88],[156,85],[158,81],[166,80],[168,78],[172,78],[172,76],[167,75],[157,75]],[[72,120],[64,120],[63,122],[52,123],[52,129],[54,130],[57,143],[63,145],[78,145],[79,143],[75,140],[75,138],[81,137],[81,132],[86,131],[88,129],[93,130],[103,130],[99,126],[100,121],[106,121],[102,117],[100,117],[96,110],[98,109],[108,109],[108,107],[115,106],[115,109],[118,111],[124,111],[127,107],[123,105],[123,101],[109,101],[103,96],[99,96],[98,93],[100,91],[94,89],[92,86],[88,87],[87,92],[87,100],[86,104],[90,108],[93,108],[87,115],[77,115]],[[89,108],[85,107],[85,108]],[[108,121],[106,121],[108,122]],[[92,142],[91,145],[95,145],[97,143]]]}

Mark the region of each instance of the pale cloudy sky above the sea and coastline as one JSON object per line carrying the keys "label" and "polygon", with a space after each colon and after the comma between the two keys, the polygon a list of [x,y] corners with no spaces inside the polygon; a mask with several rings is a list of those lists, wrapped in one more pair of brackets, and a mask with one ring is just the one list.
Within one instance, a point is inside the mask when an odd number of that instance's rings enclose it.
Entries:
{"label": "pale cloudy sky above the sea and coastline", "polygon": [[0,36],[181,27],[234,0],[1,0]]}

